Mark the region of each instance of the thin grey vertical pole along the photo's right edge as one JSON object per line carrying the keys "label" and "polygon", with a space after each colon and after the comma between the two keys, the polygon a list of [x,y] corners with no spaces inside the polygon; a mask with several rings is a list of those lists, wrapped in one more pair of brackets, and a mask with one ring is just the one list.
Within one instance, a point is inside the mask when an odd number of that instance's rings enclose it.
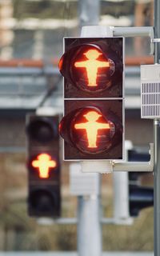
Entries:
{"label": "thin grey vertical pole along the photo's right edge", "polygon": [[[154,37],[160,38],[160,1],[154,0]],[[155,44],[154,62],[160,61],[160,43]],[[154,120],[154,255],[160,256],[160,120]]]}

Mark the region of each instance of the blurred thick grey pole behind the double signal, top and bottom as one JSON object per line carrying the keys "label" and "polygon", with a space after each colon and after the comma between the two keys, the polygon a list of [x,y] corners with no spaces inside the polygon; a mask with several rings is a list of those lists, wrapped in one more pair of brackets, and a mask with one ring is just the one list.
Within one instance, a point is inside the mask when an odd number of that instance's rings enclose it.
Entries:
{"label": "blurred thick grey pole behind the double signal, top and bottom", "polygon": [[[79,0],[78,17],[80,30],[82,26],[98,25],[99,0]],[[98,194],[78,197],[78,256],[102,254],[99,189],[98,174]]]}

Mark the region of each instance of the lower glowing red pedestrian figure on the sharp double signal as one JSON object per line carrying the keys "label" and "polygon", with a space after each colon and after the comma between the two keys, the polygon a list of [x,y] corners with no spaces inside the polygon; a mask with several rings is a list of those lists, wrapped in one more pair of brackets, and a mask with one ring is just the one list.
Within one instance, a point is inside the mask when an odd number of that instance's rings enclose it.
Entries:
{"label": "lower glowing red pedestrian figure on the sharp double signal", "polygon": [[108,123],[98,122],[98,118],[101,114],[95,111],[90,111],[83,115],[88,122],[82,122],[74,125],[75,129],[85,129],[88,139],[88,147],[95,148],[97,146],[98,130],[110,129]]}

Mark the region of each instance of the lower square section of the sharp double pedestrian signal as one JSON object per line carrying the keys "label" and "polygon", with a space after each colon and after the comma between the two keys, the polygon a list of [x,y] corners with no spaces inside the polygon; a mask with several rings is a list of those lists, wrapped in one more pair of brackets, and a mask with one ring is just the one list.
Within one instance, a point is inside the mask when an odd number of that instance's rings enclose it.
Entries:
{"label": "lower square section of the sharp double pedestrian signal", "polygon": [[65,140],[66,160],[122,159],[122,100],[65,103],[59,132]]}

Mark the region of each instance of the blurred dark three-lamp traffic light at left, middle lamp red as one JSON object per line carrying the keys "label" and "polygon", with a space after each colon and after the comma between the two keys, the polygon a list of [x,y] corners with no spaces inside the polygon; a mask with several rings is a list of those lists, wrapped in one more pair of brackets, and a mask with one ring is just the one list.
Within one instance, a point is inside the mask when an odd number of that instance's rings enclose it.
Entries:
{"label": "blurred dark three-lamp traffic light at left, middle lamp red", "polygon": [[28,213],[58,217],[61,211],[58,116],[26,116]]}

